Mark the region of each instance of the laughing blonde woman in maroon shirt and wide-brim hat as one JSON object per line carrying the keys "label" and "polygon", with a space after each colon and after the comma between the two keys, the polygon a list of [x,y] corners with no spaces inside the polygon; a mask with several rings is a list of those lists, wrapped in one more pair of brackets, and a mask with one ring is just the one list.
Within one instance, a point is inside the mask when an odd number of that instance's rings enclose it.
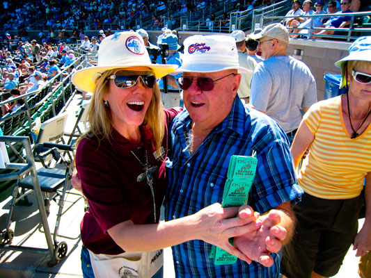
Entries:
{"label": "laughing blonde woman in maroon shirt and wide-brim hat", "polygon": [[[214,204],[159,222],[168,125],[178,111],[162,108],[156,79],[175,67],[150,63],[141,35],[120,32],[100,44],[97,67],[72,76],[79,89],[94,93],[90,130],[79,139],[76,154],[89,205],[81,222],[84,277],[161,277],[161,248],[196,238],[247,260],[228,238],[248,231],[244,224],[257,215],[240,212],[244,220],[232,218],[237,208]],[[241,225],[244,229],[234,229]]]}

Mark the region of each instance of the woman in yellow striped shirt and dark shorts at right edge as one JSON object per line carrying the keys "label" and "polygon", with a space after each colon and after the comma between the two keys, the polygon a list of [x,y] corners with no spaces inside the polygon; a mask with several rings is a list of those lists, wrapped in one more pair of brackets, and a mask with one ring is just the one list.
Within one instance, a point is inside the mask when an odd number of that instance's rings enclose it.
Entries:
{"label": "woman in yellow striped shirt and dark shorts at right edge", "polygon": [[331,277],[350,245],[356,256],[371,250],[371,36],[358,38],[335,65],[347,93],[313,104],[291,147],[295,166],[308,147],[309,154],[298,179],[305,194],[294,206],[297,228],[283,249],[287,277]]}

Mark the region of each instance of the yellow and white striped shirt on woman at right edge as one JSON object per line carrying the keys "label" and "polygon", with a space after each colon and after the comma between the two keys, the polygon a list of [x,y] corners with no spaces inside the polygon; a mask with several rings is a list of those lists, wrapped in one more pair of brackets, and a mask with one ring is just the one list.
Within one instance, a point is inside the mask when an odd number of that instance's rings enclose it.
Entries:
{"label": "yellow and white striped shirt on woman at right edge", "polygon": [[371,124],[351,139],[341,111],[339,96],[313,104],[303,117],[315,138],[308,163],[301,167],[299,185],[322,199],[357,197],[371,172]]}

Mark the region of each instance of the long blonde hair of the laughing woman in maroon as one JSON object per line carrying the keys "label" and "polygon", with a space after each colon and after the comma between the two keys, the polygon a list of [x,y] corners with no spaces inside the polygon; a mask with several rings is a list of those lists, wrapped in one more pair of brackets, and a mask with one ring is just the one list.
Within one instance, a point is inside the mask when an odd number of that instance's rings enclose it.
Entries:
{"label": "long blonde hair of the laughing woman in maroon", "polygon": [[[109,107],[104,106],[103,99],[109,93],[109,80],[107,78],[115,70],[104,72],[95,82],[95,92],[88,110],[89,131],[79,138],[77,144],[82,139],[91,137],[97,138],[98,142],[111,140],[113,131],[111,111]],[[147,125],[152,131],[156,154],[161,157],[161,143],[164,138],[165,124],[161,94],[157,83],[152,88],[152,98],[145,113],[143,124]]]}

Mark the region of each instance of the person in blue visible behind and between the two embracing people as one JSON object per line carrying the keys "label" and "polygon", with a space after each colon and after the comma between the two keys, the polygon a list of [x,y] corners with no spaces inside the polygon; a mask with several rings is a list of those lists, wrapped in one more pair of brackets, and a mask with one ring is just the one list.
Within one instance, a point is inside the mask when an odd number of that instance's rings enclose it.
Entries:
{"label": "person in blue visible behind and between the two embracing people", "polygon": [[[168,33],[162,38],[162,45],[168,45],[168,57],[166,57],[166,64],[182,66],[182,57],[180,52],[177,49],[180,48],[180,45],[177,44],[177,36]],[[177,79],[181,77],[182,74],[171,75],[168,74],[165,76],[167,79],[167,92],[164,90],[164,81],[159,80],[159,88],[161,90],[161,98],[164,103],[165,108],[172,108],[175,106],[183,106],[183,101],[181,97],[182,90],[177,85]]]}

